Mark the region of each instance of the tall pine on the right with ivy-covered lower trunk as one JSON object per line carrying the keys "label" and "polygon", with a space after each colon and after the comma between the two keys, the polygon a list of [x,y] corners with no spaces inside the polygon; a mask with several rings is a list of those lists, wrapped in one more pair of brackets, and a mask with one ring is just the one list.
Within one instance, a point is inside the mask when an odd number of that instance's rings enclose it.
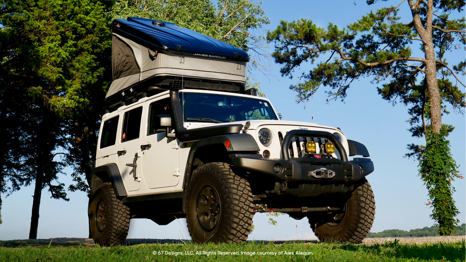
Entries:
{"label": "tall pine on the right with ivy-covered lower trunk", "polygon": [[[267,40],[275,43],[273,56],[283,65],[283,76],[292,77],[302,63],[315,64],[300,76],[302,83],[290,86],[298,92],[298,103],[321,85],[331,87],[329,99],[343,100],[355,79],[371,76],[375,83],[382,84],[377,89],[384,99],[400,99],[411,105],[411,131],[413,136],[424,135],[426,146],[410,145],[410,149],[419,157],[419,175],[429,190],[434,207],[431,217],[438,222],[441,235],[454,232],[454,217],[459,214],[452,199],[451,181],[460,176],[445,138],[452,126],[442,125],[442,112],[448,113],[444,103],[459,111],[466,106],[465,94],[449,81],[450,77],[464,86],[454,70],[465,73],[466,62],[451,69],[445,59],[445,51],[453,48],[455,41],[466,44],[465,18],[449,19],[452,12],[462,11],[465,5],[465,1],[453,0],[403,0],[396,7],[371,11],[347,28],[340,29],[333,23],[319,28],[301,19],[281,21],[267,34]],[[400,8],[410,10],[406,22],[398,16]],[[414,42],[420,43],[424,57],[412,55]],[[321,59],[321,55],[326,56]]]}

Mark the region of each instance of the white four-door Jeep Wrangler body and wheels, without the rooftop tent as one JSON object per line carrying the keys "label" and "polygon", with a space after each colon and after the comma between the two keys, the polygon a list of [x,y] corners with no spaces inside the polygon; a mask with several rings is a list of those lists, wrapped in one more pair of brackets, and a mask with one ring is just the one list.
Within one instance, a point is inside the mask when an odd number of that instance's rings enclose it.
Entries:
{"label": "white four-door Jeep Wrangler body and wheels, without the rooftop tent", "polygon": [[89,221],[101,244],[123,242],[132,218],[185,217],[195,242],[245,241],[255,212],[308,217],[321,240],[361,241],[374,219],[373,164],[348,160],[365,147],[281,121],[266,98],[164,91],[105,114],[98,143]]}

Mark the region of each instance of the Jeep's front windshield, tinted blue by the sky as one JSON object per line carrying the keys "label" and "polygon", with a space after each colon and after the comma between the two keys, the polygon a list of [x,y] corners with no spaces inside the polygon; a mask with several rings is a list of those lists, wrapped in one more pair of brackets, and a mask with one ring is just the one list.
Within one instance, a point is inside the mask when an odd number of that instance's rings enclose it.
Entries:
{"label": "Jeep's front windshield, tinted blue by the sky", "polygon": [[181,92],[179,98],[185,122],[278,120],[270,103],[262,99],[192,92]]}

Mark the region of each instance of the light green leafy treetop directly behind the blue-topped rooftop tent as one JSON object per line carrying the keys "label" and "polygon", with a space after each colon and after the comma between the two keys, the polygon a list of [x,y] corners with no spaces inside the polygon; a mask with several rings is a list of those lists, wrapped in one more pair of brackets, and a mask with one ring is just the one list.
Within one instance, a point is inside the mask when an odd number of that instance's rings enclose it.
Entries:
{"label": "light green leafy treetop directly behind the blue-topped rooftop tent", "polygon": [[[248,66],[268,74],[264,37],[255,34],[262,25],[269,24],[260,7],[261,2],[250,0],[221,0],[217,5],[210,0],[117,0],[111,16],[144,17],[175,23],[224,41],[248,53]],[[251,68],[248,68],[248,79]]]}

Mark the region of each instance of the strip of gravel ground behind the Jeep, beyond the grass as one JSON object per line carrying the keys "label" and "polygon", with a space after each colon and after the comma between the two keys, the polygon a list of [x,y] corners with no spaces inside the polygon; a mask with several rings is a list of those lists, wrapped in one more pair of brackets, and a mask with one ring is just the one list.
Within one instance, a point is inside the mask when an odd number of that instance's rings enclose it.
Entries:
{"label": "strip of gravel ground behind the Jeep, beyond the grass", "polygon": [[[399,240],[400,243],[416,243],[416,244],[425,244],[425,243],[435,243],[435,242],[456,242],[456,241],[466,241],[466,235],[453,235],[453,236],[426,236],[426,237],[384,237],[384,238],[366,238],[363,240],[361,244],[364,245],[372,245],[372,244],[383,244],[385,242],[392,242],[395,239]],[[19,245],[44,245],[50,243],[52,239],[23,239],[23,240],[7,240],[7,241],[0,241],[0,246],[4,247],[15,247]],[[184,241],[189,240],[180,240],[180,239],[146,239],[146,238],[130,238],[126,239],[125,244],[128,245],[136,245],[136,244],[144,244],[144,243],[182,243]],[[254,240],[253,240],[254,241]],[[298,240],[299,242],[304,243],[317,243],[318,240]],[[292,242],[292,241],[285,241],[285,240],[272,240],[266,241],[272,242],[274,244],[282,244],[285,242]],[[81,244],[83,246],[93,246],[94,241],[91,238],[76,238],[76,237],[59,237],[54,238],[52,243],[55,245],[78,245]]]}

